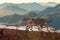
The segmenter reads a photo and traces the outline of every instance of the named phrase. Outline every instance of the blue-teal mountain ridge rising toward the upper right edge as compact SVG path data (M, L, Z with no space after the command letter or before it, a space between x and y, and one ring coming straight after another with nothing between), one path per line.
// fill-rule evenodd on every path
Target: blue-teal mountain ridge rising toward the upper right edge
M48 7L45 10L39 12L39 14L40 15L46 15L46 14L53 13L53 12L55 12L55 11L60 9L59 6L60 6L60 4L56 5L55 7Z

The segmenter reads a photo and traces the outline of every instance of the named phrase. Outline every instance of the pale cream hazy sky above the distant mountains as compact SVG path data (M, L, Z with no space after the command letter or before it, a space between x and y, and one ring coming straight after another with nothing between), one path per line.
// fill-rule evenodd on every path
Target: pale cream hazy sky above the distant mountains
M30 3L30 2L57 2L60 3L60 0L0 0L0 3Z

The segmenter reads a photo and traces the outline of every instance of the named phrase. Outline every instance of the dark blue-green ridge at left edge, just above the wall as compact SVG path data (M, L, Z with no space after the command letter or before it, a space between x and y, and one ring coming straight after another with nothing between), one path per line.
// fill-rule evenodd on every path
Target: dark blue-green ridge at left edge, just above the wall
M13 14L4 17L0 17L1 23L17 23L22 19L23 15Z

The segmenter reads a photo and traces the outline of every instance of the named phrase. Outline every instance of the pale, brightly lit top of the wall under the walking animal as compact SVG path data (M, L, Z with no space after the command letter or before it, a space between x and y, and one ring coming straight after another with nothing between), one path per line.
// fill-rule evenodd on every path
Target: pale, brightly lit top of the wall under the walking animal
M6 26L6 25L0 25L0 28L6 28L6 29L16 29L15 26ZM29 28L29 31L31 28ZM26 30L26 26L20 26L17 30ZM50 32L57 32L57 33L60 33L60 30L55 30L55 28L52 28L52 27L48 27L48 30ZM48 32L47 28L43 28L41 31L44 31L44 32ZM38 31L38 27L37 26L33 26L33 31Z

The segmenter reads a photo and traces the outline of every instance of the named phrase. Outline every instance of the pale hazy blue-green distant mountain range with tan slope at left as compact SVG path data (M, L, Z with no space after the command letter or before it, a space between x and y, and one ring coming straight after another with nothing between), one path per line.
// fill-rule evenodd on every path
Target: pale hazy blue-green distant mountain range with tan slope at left
M19 15L24 15L29 13L30 11L43 11L49 5L43 5L43 3L21 3L21 4L14 4L14 3L3 3L0 4L0 16L11 15L17 13ZM52 6L51 6L52 7Z

